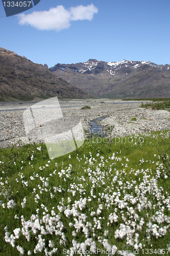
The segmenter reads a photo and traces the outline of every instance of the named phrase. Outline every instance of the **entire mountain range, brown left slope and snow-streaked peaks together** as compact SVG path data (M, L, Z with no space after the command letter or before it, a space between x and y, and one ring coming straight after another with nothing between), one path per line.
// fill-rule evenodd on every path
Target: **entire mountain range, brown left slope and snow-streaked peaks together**
M0 100L170 97L170 65L151 61L37 64L0 48Z

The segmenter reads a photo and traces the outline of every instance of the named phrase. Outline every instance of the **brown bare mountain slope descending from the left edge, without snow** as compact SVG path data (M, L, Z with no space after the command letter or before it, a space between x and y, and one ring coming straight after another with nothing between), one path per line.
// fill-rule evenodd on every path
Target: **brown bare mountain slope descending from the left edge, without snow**
M0 100L88 98L41 64L0 48Z

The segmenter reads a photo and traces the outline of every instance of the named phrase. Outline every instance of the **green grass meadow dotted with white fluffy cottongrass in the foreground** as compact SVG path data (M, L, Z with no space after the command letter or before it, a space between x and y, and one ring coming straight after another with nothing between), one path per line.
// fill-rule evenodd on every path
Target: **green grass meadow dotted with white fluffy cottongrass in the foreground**
M0 255L170 255L170 131L0 150Z

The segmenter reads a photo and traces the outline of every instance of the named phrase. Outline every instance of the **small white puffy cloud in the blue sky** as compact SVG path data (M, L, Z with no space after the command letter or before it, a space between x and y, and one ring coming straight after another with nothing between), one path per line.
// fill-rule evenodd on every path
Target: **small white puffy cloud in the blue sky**
M31 25L39 30L61 31L70 27L73 20L92 20L93 15L98 13L98 8L93 4L88 6L79 5L66 10L62 5L51 8L49 11L38 11L30 14L19 14L20 25Z

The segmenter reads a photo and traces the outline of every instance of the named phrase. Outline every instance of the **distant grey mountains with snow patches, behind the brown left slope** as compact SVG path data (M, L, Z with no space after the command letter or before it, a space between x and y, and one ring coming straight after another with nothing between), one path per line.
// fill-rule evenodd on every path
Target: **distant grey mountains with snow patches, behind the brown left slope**
M72 86L99 98L170 97L170 65L151 61L60 64L49 69Z

